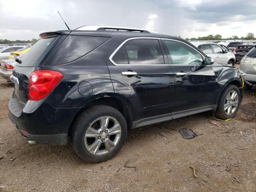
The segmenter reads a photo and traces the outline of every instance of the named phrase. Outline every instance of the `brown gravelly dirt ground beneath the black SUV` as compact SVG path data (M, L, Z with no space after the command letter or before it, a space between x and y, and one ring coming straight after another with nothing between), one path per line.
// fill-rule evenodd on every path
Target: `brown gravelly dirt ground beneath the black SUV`
M30 147L8 119L12 91L0 79L0 156L10 149L0 160L0 192L256 191L256 86L228 122L215 126L206 112L132 130L122 150L99 164L81 160L70 144ZM198 136L184 140L181 128Z

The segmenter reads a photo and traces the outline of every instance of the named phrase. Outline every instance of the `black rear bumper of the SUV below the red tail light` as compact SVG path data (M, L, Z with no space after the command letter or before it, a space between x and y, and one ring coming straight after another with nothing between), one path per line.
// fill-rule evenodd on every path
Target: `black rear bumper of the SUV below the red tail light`
M80 108L53 108L47 102L25 113L16 98L9 102L8 116L17 130L39 143L65 145L70 124Z

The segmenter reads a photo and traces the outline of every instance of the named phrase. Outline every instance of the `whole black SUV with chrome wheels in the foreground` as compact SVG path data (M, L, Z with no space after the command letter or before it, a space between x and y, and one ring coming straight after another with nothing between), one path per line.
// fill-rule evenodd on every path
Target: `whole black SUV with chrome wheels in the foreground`
M235 116L238 71L184 39L145 30L62 30L40 34L11 76L9 117L30 144L65 145L101 162L128 129L213 111Z

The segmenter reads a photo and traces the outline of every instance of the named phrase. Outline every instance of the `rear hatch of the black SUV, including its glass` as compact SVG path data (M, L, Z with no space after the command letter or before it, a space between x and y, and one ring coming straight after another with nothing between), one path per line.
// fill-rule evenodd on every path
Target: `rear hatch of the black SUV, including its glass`
M58 32L41 34L41 39L32 48L17 57L19 62L16 64L13 76L18 78L18 83L14 84L14 96L20 104L25 106L28 101L28 82L31 72L38 70L44 57L50 52L57 42L64 36ZM17 60L16 60L17 61Z

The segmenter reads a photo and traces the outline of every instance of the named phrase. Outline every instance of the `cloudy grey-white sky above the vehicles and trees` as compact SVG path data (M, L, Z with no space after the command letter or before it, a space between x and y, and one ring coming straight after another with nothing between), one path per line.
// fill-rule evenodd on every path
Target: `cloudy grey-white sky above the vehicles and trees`
M83 25L150 28L182 38L256 35L256 0L0 0L0 39Z

